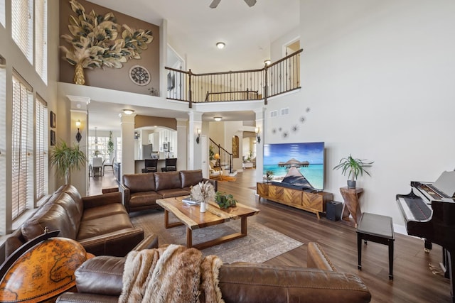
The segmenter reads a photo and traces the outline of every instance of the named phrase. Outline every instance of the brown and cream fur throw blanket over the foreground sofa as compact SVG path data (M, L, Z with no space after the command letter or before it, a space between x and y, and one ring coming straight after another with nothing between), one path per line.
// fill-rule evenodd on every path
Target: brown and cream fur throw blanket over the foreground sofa
M128 253L120 303L224 303L218 287L223 262L215 255L171 244Z

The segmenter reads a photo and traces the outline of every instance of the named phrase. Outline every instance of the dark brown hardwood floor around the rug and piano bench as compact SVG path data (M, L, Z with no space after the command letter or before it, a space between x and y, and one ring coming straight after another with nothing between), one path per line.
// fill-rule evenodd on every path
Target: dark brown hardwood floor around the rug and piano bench
M235 182L218 182L218 190L232 193L242 204L260 209L250 220L303 243L320 243L339 272L353 273L365 282L372 302L451 302L449 279L432 273L429 268L429 264L438 266L441 262L439 246L433 245L430 253L424 253L421 239L395 233L394 280L388 279L388 251L382 244L368 242L363 245L360 271L357 269L355 228L323 216L318 220L314 214L268 200L259 202L254 175L255 170L239 172ZM90 178L91 194L100 194L102 187L116 185L112 175L100 179ZM266 263L306 267L306 247L300 246Z

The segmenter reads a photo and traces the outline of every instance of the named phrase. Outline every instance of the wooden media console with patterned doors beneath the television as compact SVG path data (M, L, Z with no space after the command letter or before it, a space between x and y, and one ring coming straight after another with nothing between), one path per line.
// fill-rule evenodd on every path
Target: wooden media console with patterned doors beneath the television
M256 193L259 195L259 200L264 198L310 211L316 214L318 219L320 219L320 212L326 212L326 203L333 200L333 194L330 192L309 192L267 182L257 182Z

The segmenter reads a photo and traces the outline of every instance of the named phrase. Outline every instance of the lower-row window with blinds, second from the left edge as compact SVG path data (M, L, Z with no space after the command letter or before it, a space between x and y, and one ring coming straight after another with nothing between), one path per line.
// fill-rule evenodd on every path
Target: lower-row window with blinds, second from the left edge
M31 87L13 77L11 142L12 219L33 203L33 94Z

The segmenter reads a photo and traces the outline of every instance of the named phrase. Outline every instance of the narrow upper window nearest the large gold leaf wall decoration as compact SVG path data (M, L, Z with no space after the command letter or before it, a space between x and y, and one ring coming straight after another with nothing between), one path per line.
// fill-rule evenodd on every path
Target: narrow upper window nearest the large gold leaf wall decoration
M35 70L48 84L48 1L35 1Z

